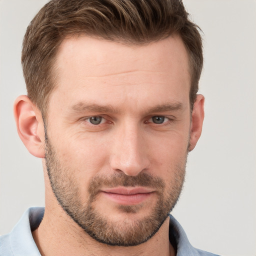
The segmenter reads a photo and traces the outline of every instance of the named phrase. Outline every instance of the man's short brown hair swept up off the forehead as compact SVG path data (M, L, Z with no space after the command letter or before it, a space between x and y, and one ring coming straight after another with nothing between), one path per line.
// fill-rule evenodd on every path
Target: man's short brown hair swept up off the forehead
M181 0L51 0L32 19L23 39L21 63L28 97L46 110L56 82L57 50L68 35L145 44L178 34L189 55L192 109L203 62L198 30Z

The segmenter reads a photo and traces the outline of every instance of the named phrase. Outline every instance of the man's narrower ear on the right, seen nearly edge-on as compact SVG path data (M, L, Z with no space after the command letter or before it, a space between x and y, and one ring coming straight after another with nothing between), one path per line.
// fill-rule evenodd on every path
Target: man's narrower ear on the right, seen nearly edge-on
M198 94L194 102L191 124L190 124L190 139L188 150L191 151L194 149L202 131L202 122L204 118L204 96Z

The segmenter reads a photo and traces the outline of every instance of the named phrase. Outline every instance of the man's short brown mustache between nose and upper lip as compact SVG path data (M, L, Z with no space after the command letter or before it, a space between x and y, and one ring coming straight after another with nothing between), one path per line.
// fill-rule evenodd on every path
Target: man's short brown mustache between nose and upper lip
M95 176L89 182L88 192L90 195L95 195L102 187L112 188L116 186L146 186L163 190L165 183L162 178L154 177L145 172L140 172L136 176L128 176L119 172L111 176Z

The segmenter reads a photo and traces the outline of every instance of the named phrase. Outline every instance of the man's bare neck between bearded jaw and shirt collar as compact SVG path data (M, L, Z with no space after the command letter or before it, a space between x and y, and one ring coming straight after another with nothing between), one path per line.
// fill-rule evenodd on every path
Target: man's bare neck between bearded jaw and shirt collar
M32 234L42 256L174 256L174 249L168 239L168 229L169 219L167 218L148 241L136 246L112 246L91 238L60 206L58 210L45 206L42 222Z

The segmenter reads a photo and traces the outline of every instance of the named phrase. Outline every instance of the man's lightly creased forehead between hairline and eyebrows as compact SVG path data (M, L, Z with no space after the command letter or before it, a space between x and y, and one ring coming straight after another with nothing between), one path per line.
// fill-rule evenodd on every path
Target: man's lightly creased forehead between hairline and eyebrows
M172 101L180 101L177 97L188 100L188 56L179 36L143 45L71 37L61 43L55 65L55 103L59 97L60 104L90 98L106 104L144 104L154 101L156 93Z

